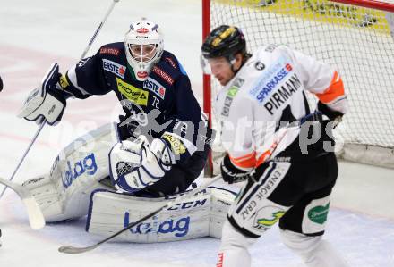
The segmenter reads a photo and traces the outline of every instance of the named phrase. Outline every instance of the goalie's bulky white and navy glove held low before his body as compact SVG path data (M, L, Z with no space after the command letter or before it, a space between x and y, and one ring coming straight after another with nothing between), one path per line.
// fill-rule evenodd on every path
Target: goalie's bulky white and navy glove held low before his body
M163 178L171 170L175 157L162 139L151 145L145 136L117 143L109 152L109 169L116 189L133 193Z

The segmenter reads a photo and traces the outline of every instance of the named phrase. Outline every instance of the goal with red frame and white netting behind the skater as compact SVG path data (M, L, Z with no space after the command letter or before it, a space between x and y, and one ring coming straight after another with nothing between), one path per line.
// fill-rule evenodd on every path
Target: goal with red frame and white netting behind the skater
M373 0L202 0L202 38L235 25L250 52L284 44L330 63L350 104L335 133L337 154L394 168L393 14L394 4ZM204 75L203 87L203 109L216 128L212 99L220 86Z

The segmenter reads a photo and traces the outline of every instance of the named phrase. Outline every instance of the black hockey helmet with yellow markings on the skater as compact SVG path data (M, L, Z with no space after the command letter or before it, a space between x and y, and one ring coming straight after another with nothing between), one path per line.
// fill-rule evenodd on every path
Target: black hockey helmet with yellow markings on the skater
M231 61L237 53L246 54L244 34L235 26L218 26L205 38L201 53L206 59L224 56Z

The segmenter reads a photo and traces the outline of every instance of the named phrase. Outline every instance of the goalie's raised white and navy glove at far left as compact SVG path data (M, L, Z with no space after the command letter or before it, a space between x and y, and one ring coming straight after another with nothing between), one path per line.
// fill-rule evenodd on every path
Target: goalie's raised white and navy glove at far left
M18 117L40 124L46 120L49 125L54 125L62 119L65 99L70 95L60 89L59 66L51 65L47 75L42 79L41 86L35 88L26 99Z

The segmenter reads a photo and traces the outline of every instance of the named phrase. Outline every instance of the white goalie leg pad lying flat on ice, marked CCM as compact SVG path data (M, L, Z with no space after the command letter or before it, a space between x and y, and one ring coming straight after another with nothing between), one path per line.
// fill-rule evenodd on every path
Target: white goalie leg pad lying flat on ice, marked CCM
M171 196L174 198L179 195ZM156 243L221 236L235 193L208 188L133 227L117 240ZM138 197L99 190L90 198L86 230L107 237L167 204L168 197Z

